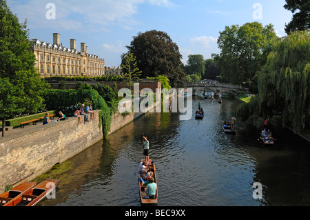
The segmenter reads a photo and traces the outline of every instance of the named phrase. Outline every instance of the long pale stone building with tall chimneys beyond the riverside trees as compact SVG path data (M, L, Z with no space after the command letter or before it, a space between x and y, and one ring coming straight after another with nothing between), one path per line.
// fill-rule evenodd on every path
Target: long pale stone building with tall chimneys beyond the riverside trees
M105 75L105 61L87 52L86 43L76 50L76 39L70 39L70 48L60 42L60 34L53 34L53 43L30 39L36 56L36 68L41 77L100 77Z

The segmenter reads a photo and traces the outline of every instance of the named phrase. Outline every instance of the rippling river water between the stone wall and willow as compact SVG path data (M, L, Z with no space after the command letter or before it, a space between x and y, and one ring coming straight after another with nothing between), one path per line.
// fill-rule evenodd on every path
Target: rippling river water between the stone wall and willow
M205 110L201 121L180 113L147 113L65 162L56 199L39 206L141 206L138 163L143 134L156 163L158 206L309 206L310 146L273 125L274 146L258 141L260 128L237 119L238 134L220 126L231 119L236 99L193 98ZM262 199L254 199L254 183Z

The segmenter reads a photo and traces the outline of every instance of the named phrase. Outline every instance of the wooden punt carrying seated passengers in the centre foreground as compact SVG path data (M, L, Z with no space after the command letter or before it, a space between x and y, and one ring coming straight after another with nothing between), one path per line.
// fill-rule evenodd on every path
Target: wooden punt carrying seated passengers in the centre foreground
M144 161L143 159L141 161ZM156 178L156 167L155 167L155 163L153 163L152 166L152 160L149 159L149 163L147 164L147 167L149 168L150 171L152 171L154 173L154 183L157 184L157 178ZM141 184L140 181L141 178L141 174L139 173L139 178L138 178L138 182L139 182L139 193L140 193L140 201L143 205L152 205L152 204L157 204L158 203L158 186L156 186L156 197L155 199L149 199L147 197L147 192L145 192L145 188L147 188L147 186L143 186Z

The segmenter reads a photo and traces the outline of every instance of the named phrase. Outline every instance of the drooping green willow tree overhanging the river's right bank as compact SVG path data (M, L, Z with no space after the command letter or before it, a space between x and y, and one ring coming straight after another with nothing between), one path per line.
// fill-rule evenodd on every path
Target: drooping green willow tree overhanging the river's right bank
M241 119L281 112L282 126L301 132L310 111L310 33L291 32L258 74L258 96L238 108Z

